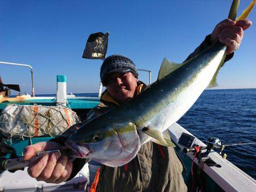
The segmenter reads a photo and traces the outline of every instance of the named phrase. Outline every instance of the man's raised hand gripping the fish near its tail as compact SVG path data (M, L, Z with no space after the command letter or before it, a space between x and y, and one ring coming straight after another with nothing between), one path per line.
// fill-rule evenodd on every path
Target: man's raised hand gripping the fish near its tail
M213 44L220 41L225 44L228 49L226 49L226 55L229 55L234 50L240 47L241 41L243 39L243 31L251 26L250 20L239 20L233 21L231 19L222 20L214 28L212 34L210 35L210 40Z

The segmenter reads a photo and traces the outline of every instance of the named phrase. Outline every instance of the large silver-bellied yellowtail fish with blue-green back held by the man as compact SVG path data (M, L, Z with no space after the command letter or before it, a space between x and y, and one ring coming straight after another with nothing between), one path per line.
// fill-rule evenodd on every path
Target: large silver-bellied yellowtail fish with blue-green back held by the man
M234 0L229 14L232 20L238 5ZM226 46L217 43L183 64L164 59L154 84L131 101L76 125L79 130L65 145L75 157L92 158L113 167L127 164L150 140L174 147L162 132L191 108L205 88L216 85L225 51Z

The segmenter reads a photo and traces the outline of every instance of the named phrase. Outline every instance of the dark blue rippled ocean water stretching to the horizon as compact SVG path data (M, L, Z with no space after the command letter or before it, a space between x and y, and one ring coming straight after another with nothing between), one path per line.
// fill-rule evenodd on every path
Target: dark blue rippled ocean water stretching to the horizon
M97 97L97 93L75 95ZM204 143L209 137L218 137L222 144L256 142L256 89L205 90L177 123ZM223 152L256 179L255 144L227 147Z

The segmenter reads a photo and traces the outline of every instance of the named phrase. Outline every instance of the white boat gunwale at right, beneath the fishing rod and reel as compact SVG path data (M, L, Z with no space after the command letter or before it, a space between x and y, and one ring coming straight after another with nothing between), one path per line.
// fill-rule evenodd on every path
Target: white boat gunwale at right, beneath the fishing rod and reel
M190 132L185 130L182 126L177 123L172 124L168 128L170 132L170 136L172 141L175 142L181 149L184 147L178 144L179 137L181 133L187 133L192 135ZM194 135L192 135L194 136ZM200 146L207 146L201 140L195 140L196 145ZM187 154L191 160L193 160L193 154ZM207 164L203 164L203 170L207 175L212 178L214 182L217 183L223 190L225 191L252 191L252 189L256 188L256 180L250 177L248 174L243 172L240 168L236 165L232 164L229 160L222 158L217 152L211 150L209 153L209 157L216 162L217 164L221 165L221 168L217 168L215 166L208 166ZM198 161L195 158L195 163L198 165Z

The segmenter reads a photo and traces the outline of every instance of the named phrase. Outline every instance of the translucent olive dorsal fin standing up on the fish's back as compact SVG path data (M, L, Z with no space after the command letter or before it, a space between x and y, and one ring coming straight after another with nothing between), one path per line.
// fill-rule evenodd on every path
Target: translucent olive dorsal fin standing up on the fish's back
M183 64L176 64L175 62L168 61L166 58L163 59L159 73L158 80L166 77L171 72L174 72L177 68L180 68Z

